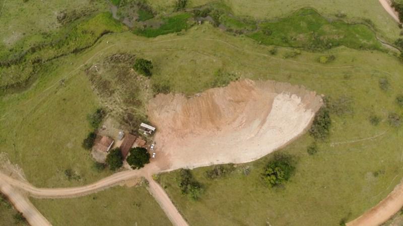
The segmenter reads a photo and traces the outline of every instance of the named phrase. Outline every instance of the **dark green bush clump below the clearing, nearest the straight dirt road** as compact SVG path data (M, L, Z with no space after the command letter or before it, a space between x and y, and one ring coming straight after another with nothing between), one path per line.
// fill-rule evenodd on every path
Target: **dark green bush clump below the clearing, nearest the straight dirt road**
M179 188L182 194L187 194L192 200L199 199L203 191L201 184L193 178L188 169L179 171Z

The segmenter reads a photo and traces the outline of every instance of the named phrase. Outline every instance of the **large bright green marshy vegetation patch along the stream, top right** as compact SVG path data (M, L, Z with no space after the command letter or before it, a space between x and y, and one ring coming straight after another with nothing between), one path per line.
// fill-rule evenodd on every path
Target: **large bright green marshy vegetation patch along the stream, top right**
M275 22L261 22L258 26L259 30L248 36L266 45L311 50L341 45L355 49L381 48L375 34L367 26L351 25L343 21L329 22L309 8L298 10L290 17Z

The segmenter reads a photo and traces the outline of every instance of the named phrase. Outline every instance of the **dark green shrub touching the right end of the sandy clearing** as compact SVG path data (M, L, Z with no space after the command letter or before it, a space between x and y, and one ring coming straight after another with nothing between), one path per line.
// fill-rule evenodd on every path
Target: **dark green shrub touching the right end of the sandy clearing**
M309 133L315 139L325 139L329 136L331 119L327 107L321 107L316 113Z

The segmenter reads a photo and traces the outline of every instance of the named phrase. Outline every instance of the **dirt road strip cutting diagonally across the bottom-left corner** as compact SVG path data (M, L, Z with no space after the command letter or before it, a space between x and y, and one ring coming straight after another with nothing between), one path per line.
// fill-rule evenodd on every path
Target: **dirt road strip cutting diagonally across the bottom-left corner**
M0 179L0 191L5 194L14 207L20 211L31 226L52 226L49 221L35 208L27 197Z

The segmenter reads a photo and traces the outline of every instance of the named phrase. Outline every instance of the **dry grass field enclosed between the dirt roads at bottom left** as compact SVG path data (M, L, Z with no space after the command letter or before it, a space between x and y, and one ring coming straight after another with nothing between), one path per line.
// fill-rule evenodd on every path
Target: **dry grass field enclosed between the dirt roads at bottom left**
M145 186L114 187L80 198L31 201L53 226L172 225Z

